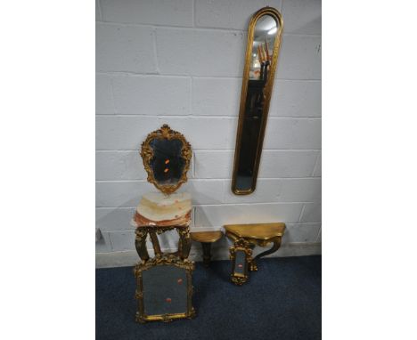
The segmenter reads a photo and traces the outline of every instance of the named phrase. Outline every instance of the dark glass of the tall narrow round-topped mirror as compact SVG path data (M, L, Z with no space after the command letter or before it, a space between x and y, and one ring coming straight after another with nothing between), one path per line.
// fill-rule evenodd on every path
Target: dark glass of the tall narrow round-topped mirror
M250 193L255 188L267 116L266 87L274 59L277 25L273 16L263 15L254 28L251 55L247 59L249 77L244 111L241 113L240 146L237 146L238 157L234 165L235 193Z

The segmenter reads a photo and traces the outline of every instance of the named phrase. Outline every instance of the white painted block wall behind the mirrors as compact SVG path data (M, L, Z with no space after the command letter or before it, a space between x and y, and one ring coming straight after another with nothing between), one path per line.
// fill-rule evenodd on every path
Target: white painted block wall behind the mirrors
M192 193L193 230L282 221L288 229L280 254L298 255L294 245L319 244L320 0L95 4L96 227L102 231L96 252L135 250L130 219L141 195L155 190L138 150L164 123L192 144L190 180L181 191ZM265 5L282 12L282 50L257 190L235 196L230 186L246 30ZM176 240L175 233L164 235L161 246L175 248Z

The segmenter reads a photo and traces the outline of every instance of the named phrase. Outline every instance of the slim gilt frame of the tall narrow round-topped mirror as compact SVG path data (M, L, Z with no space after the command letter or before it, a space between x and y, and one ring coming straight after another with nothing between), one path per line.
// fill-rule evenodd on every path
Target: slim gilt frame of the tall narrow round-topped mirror
M245 107L248 95L248 87L249 87L249 69L250 63L252 62L252 48L254 43L254 35L255 35L255 28L257 22L260 18L269 15L271 16L277 26L276 35L274 38L274 49L272 55L272 61L269 66L268 76L266 79L266 85L263 90L264 94L264 105L263 105L263 112L260 122L260 129L258 134L258 145L256 146L256 156L253 166L253 173L252 173L252 182L251 186L248 190L240 190L236 186L237 181L237 174L239 170L239 162L240 162L240 153L241 153L241 140L242 140L242 131L243 131L243 123L245 118ZM243 79L241 83L241 106L239 110L239 123L237 128L237 136L236 136L236 147L234 152L234 165L233 165L233 179L232 179L232 191L236 195L248 195L256 189L257 179L258 179L258 168L260 157L262 153L262 145L264 142L264 135L266 129L266 120L269 110L269 102L271 100L271 93L274 86L274 77L275 77L275 69L278 62L278 55L281 48L281 41L282 41L282 28L283 28L283 20L282 15L273 7L264 7L256 12L250 22L249 22L249 29L248 29L248 43L246 48L246 57L245 57L245 67L243 69Z

